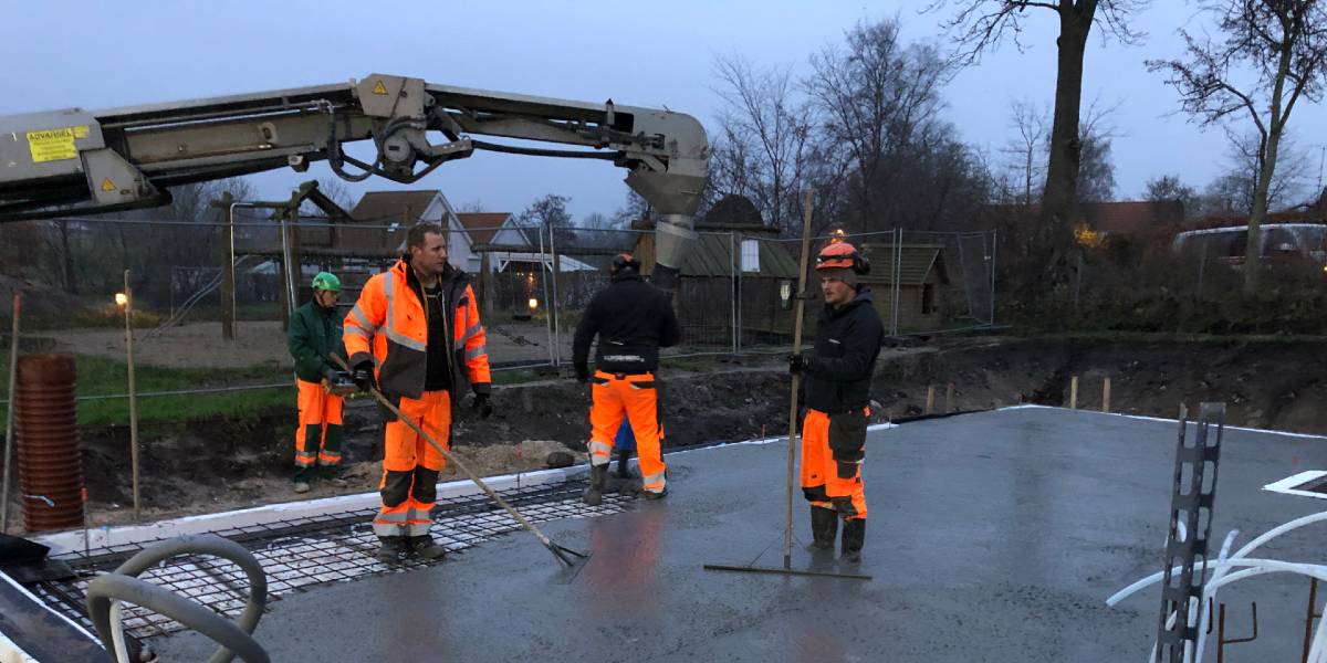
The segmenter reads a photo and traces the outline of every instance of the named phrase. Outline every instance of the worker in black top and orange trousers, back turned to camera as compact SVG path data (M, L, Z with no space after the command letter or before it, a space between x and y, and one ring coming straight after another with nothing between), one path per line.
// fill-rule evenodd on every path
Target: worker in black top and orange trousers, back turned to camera
M664 431L658 416L660 347L677 345L682 332L666 292L641 278L641 263L630 253L613 257L608 288L585 308L572 342L576 379L593 382L589 411L589 488L585 504L602 500L613 440L625 418L636 436L641 464L641 484L649 500L667 495ZM589 373L589 345L598 337L593 375Z

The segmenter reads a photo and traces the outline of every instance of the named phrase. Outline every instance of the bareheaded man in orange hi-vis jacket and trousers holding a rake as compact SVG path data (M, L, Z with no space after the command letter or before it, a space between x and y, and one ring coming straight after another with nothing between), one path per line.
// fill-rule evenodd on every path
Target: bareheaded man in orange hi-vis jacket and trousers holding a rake
M401 260L364 285L345 318L345 349L360 389L378 389L449 451L454 395L467 383L479 415L492 412L479 306L470 277L447 263L438 224L411 227ZM393 418L385 428L382 508L373 521L378 558L442 557L429 512L446 459L405 422Z

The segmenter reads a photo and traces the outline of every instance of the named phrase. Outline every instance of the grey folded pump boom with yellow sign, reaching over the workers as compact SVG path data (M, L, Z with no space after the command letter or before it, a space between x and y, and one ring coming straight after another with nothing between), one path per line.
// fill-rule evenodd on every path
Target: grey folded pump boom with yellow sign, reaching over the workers
M561 143L492 143L475 137ZM376 156L345 154L372 141ZM662 216L654 281L675 282L694 237L709 145L695 118L370 74L361 81L86 111L0 117L0 221L170 202L167 187L326 160L348 180L411 183L445 162L494 150L612 160ZM662 273L661 273L662 272Z

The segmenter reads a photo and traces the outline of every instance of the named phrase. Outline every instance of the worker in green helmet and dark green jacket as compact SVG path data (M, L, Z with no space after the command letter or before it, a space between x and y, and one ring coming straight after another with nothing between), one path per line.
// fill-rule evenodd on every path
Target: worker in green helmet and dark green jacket
M295 428L295 492L309 492L309 484L322 477L336 487L341 479L342 391L337 369L328 357L342 359L341 318L336 313L341 280L328 272L313 277L313 301L295 309L287 347L295 358L295 386L299 392L299 424Z

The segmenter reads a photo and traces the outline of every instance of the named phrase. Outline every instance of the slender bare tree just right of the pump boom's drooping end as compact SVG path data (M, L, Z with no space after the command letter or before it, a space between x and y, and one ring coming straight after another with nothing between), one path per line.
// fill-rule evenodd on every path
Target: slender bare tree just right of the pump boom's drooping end
M715 141L718 195L751 199L775 227L798 227L798 192L812 154L812 109L798 94L788 68L760 69L738 56L714 69L725 102Z

